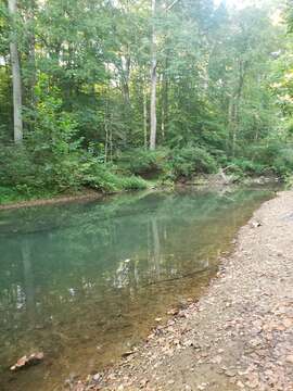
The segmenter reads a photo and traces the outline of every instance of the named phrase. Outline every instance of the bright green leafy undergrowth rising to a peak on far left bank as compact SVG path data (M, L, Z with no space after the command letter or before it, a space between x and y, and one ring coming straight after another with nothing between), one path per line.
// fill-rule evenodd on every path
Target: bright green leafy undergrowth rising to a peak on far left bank
M36 88L37 110L26 112L34 131L27 134L25 144L0 150L0 180L9 189L2 199L10 194L12 199L29 199L43 189L61 192L85 186L104 192L144 189L146 184L141 178L124 178L111 165L101 163L92 149L84 150L74 115L62 110L58 89L46 94L47 89L44 78Z

